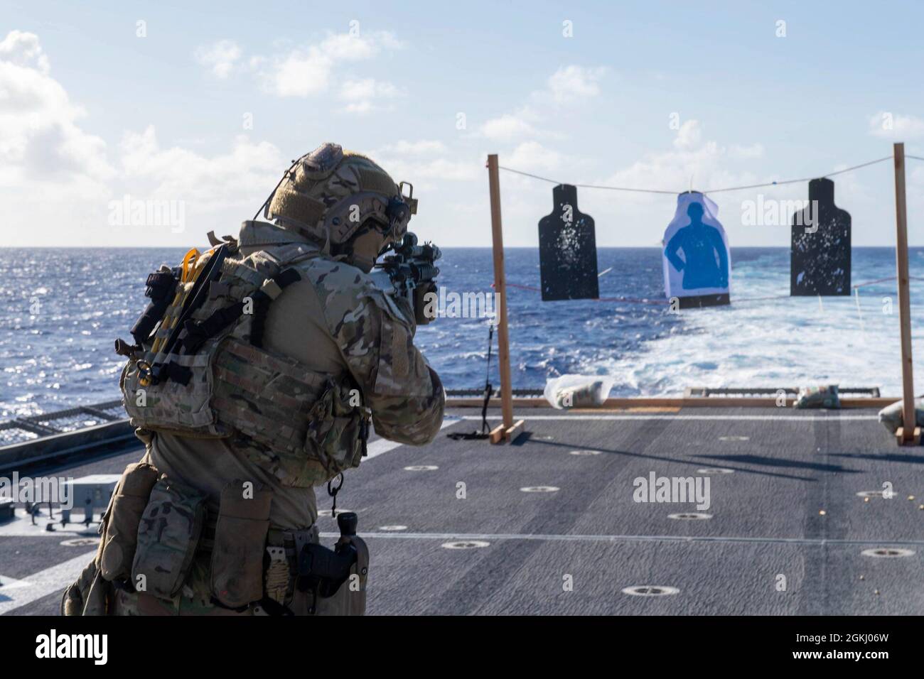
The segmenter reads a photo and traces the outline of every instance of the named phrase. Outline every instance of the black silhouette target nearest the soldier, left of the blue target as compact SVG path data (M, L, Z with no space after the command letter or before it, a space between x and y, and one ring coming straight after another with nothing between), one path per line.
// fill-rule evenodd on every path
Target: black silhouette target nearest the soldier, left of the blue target
M542 301L596 299L597 237L593 217L577 209L577 188L552 189L553 210L539 221Z

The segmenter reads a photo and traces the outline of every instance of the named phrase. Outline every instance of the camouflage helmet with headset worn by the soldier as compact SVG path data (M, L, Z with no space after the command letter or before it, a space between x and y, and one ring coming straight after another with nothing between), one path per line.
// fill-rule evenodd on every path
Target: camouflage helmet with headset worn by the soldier
M382 167L359 153L324 143L286 172L268 205L268 216L287 230L339 246L372 220L393 242L417 212L414 188L404 196Z

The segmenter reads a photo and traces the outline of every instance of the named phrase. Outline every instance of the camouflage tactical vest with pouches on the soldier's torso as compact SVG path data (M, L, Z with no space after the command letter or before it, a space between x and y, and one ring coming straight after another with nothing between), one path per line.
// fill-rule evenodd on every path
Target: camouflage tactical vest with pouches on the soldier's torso
M265 454L255 461L274 460L269 467L286 485L319 485L359 466L369 410L358 385L262 346L270 304L319 254L290 244L241 257L229 242L194 263L188 255L183 267L152 273L152 304L132 329L137 344L122 352L130 356L120 387L132 425L243 436ZM152 308L164 312L148 333ZM139 331L145 318L149 325Z

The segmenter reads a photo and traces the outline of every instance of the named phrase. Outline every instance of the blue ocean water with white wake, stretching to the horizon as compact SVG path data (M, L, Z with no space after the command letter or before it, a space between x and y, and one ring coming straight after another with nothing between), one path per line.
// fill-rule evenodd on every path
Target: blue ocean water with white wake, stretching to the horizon
M118 397L123 358L116 337L144 307L144 281L179 249L0 249L0 418ZM505 253L510 284L539 286L536 249ZM649 299L541 302L508 292L516 388L541 388L565 373L608 374L612 395L678 395L687 386L796 386L839 383L901 393L894 280L863 285L855 297L788 297L788 249L732 249L732 305L672 314L663 304L659 249L600 249L601 297ZM912 249L924 278L924 249ZM448 293L490 292L490 249L445 249ZM853 251L853 283L894 277L894 249ZM912 319L924 311L924 282L911 285ZM921 328L913 329L924 383ZM480 388L488 324L440 318L417 344L447 388ZM496 340L495 340L496 342ZM497 385L496 344L492 383ZM924 391L924 390L918 390Z

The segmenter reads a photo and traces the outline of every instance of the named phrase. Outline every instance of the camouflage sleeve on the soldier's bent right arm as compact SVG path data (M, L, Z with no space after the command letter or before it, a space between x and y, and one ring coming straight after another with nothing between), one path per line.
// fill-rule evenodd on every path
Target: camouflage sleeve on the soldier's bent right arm
M414 346L413 316L408 321L391 297L363 285L361 278L350 283L329 289L322 303L346 368L372 410L376 432L400 443L432 442L443 424L445 394L436 371Z

